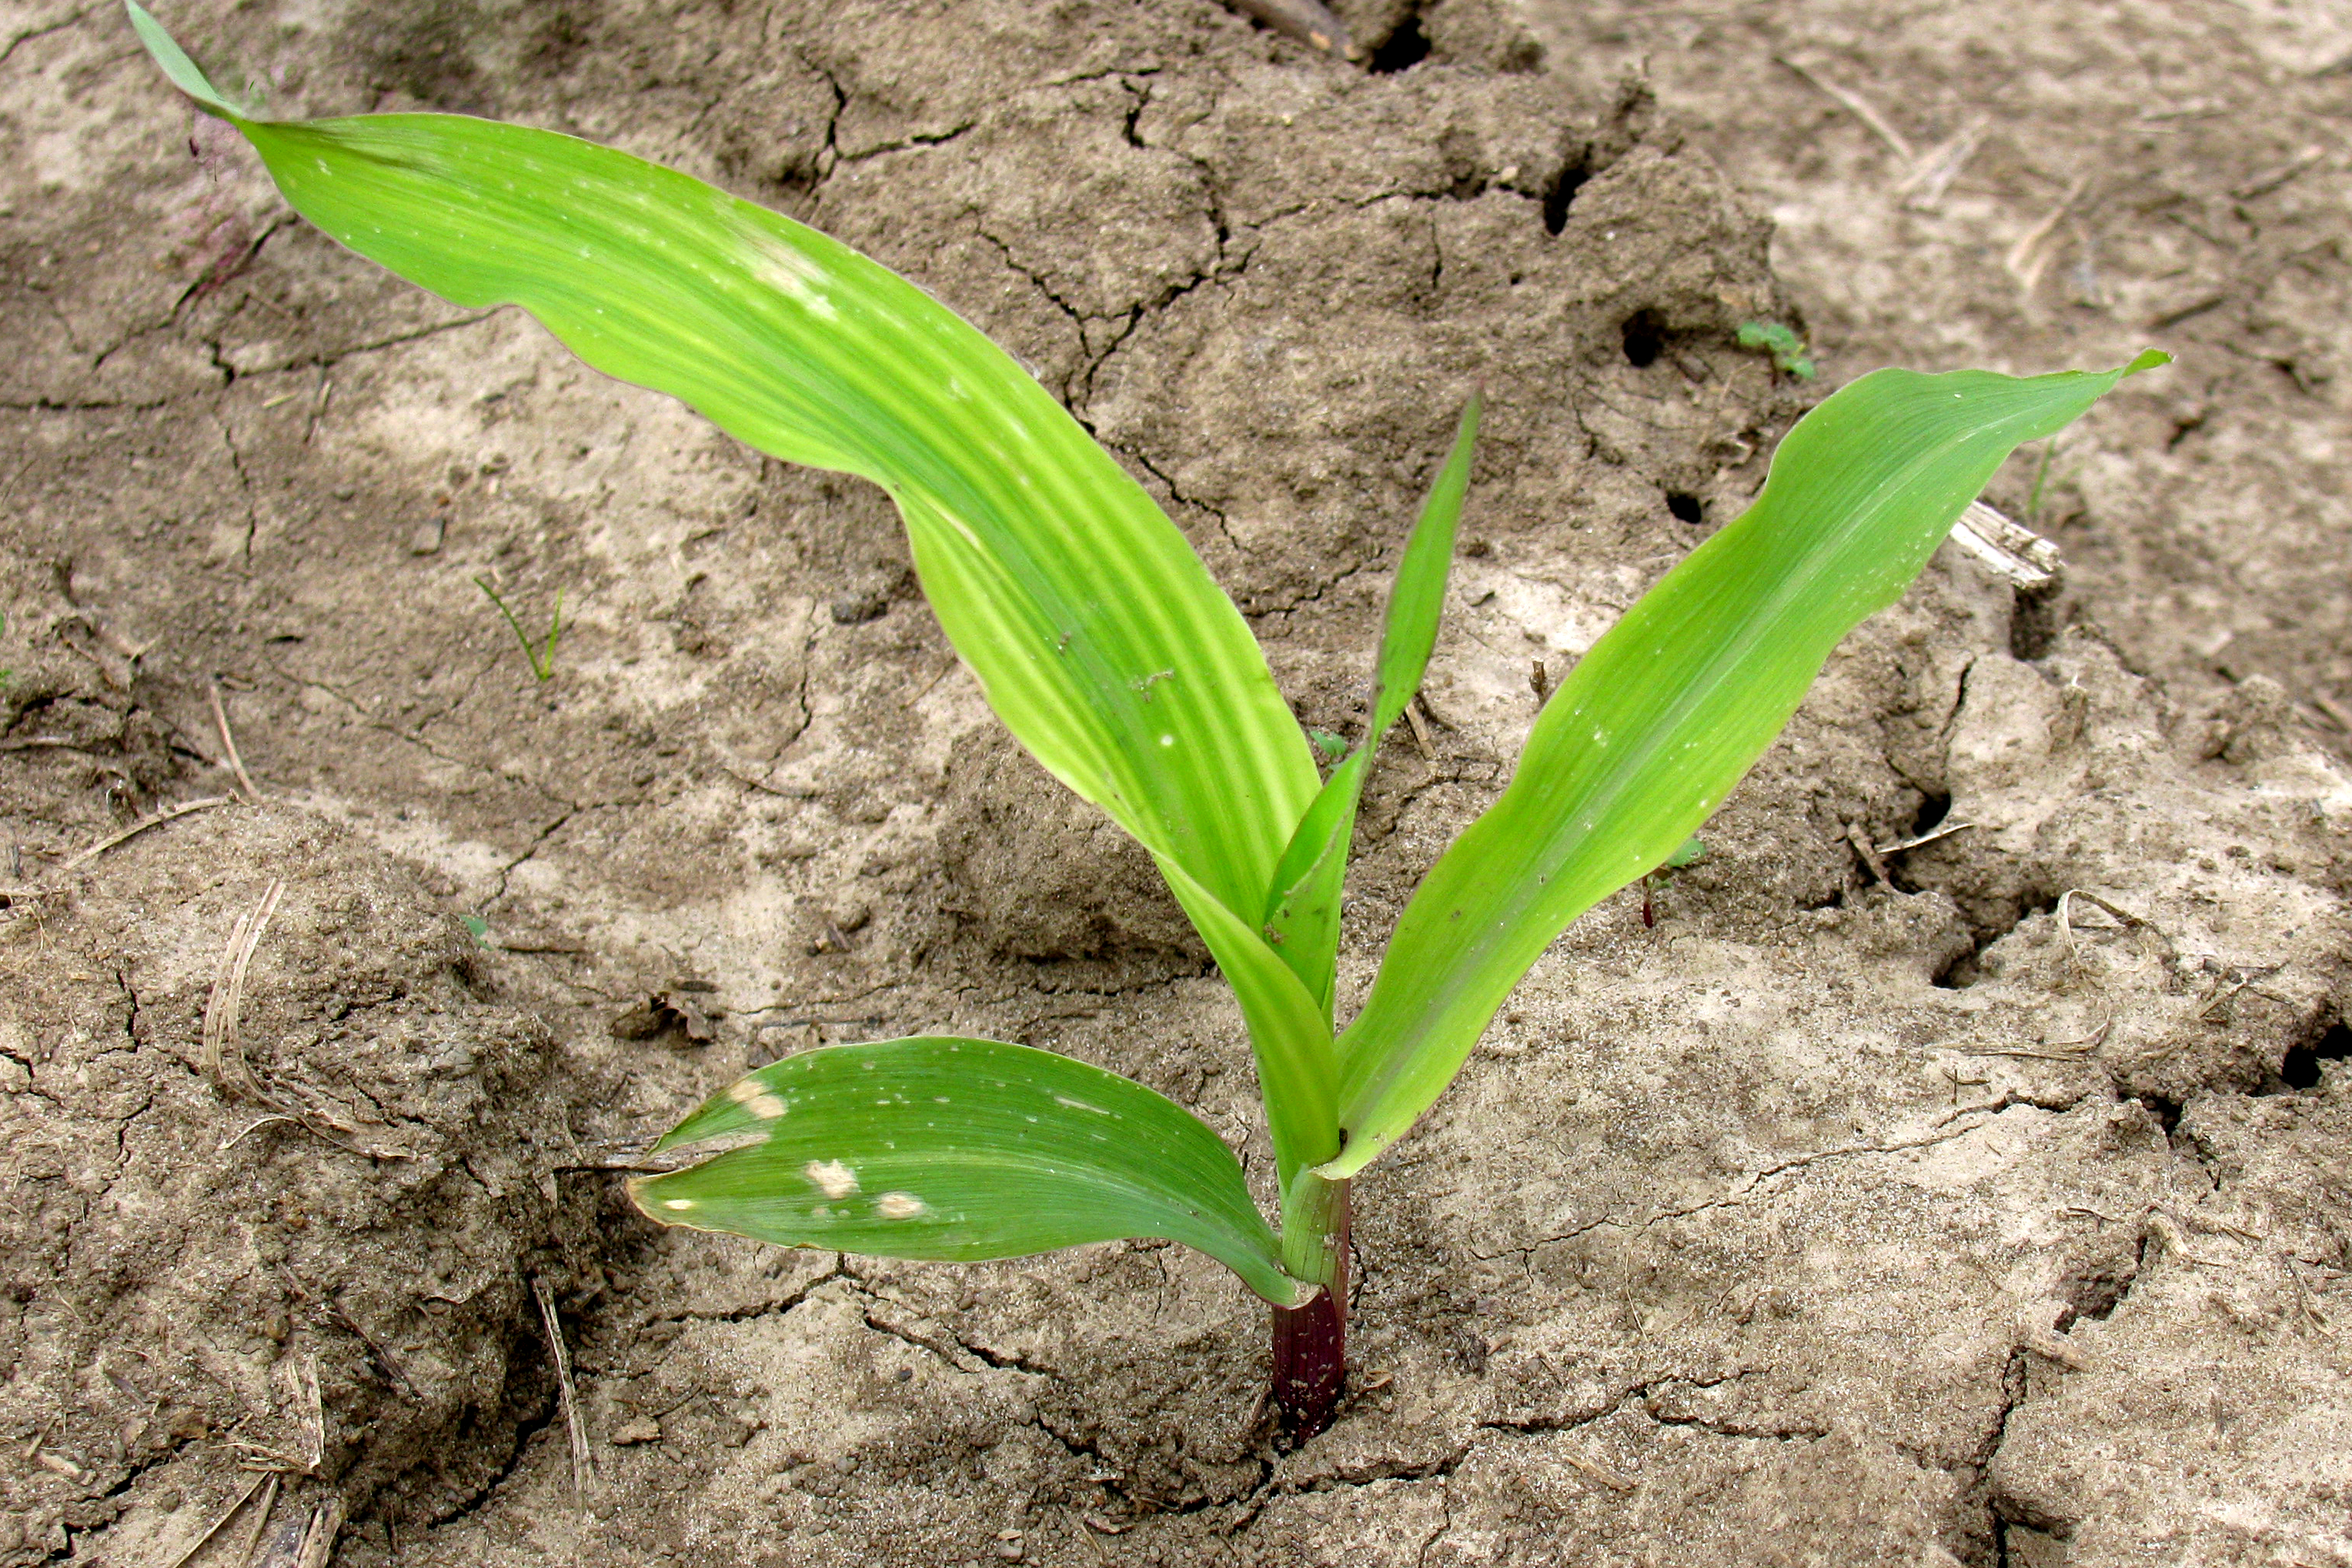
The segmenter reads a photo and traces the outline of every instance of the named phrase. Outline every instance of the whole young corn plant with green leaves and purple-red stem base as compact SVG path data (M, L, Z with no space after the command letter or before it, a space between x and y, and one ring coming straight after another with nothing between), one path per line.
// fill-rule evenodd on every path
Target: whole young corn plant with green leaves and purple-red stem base
M1780 442L1545 703L1517 773L1421 882L1336 1027L1341 889L1374 748L1437 635L1479 409L1404 545L1369 722L1319 776L1247 623L1150 496L1009 355L866 256L701 181L456 115L270 120L129 0L148 52L285 197L461 306L513 303L588 364L771 456L896 501L990 708L1155 858L1240 1001L1277 1215L1225 1143L1101 1067L922 1034L793 1056L713 1095L630 1185L666 1225L974 1262L1183 1241L1272 1305L1275 1396L1322 1429L1345 1378L1348 1187L1444 1093L1569 922L1668 865L1780 733L1830 649L1891 604L2020 442L2103 374L1884 369Z

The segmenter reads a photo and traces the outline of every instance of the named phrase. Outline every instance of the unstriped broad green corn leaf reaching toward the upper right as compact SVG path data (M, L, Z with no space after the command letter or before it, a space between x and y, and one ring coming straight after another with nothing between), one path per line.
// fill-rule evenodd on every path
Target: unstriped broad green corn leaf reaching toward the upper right
M1510 788L1414 893L1341 1037L1348 1150L1319 1173L1352 1175L1404 1135L1552 938L1708 820L2011 449L2164 362L2030 381L1884 369L1806 414L1757 503L1559 684Z

